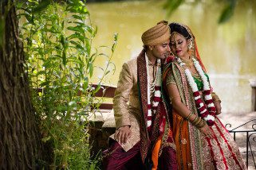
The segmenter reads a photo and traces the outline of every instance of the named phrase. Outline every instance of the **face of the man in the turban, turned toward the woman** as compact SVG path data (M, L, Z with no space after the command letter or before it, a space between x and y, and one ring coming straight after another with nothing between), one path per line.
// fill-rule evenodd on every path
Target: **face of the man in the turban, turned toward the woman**
M152 46L152 54L156 59L165 59L170 55L171 49L169 47L169 40L163 42L162 44L157 44Z

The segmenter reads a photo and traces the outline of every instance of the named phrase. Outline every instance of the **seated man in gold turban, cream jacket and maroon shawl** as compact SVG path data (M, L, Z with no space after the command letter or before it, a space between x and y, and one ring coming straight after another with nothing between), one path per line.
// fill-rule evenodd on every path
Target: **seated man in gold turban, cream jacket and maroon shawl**
M161 92L161 60L171 52L167 21L145 31L141 39L144 49L120 72L113 98L116 133L103 153L104 169L178 168Z

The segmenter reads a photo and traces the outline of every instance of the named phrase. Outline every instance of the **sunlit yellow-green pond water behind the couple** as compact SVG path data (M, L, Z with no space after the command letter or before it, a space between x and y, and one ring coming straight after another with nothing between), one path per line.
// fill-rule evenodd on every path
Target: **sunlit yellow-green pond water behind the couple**
M163 19L178 21L189 25L196 37L211 83L222 99L223 112L250 111L249 79L256 79L256 2L251 1L249 4L238 1L234 17L224 25L217 23L219 9L223 9L223 4L184 4L171 17L166 17L162 3L142 1L89 4L93 25L98 27L95 46L111 45L113 33L119 33L112 59L116 64L116 72L108 75L107 83L116 85L122 64L139 54L142 49L140 36L144 30ZM104 58L96 60L96 64L104 66ZM96 71L94 82L100 74L100 71Z

